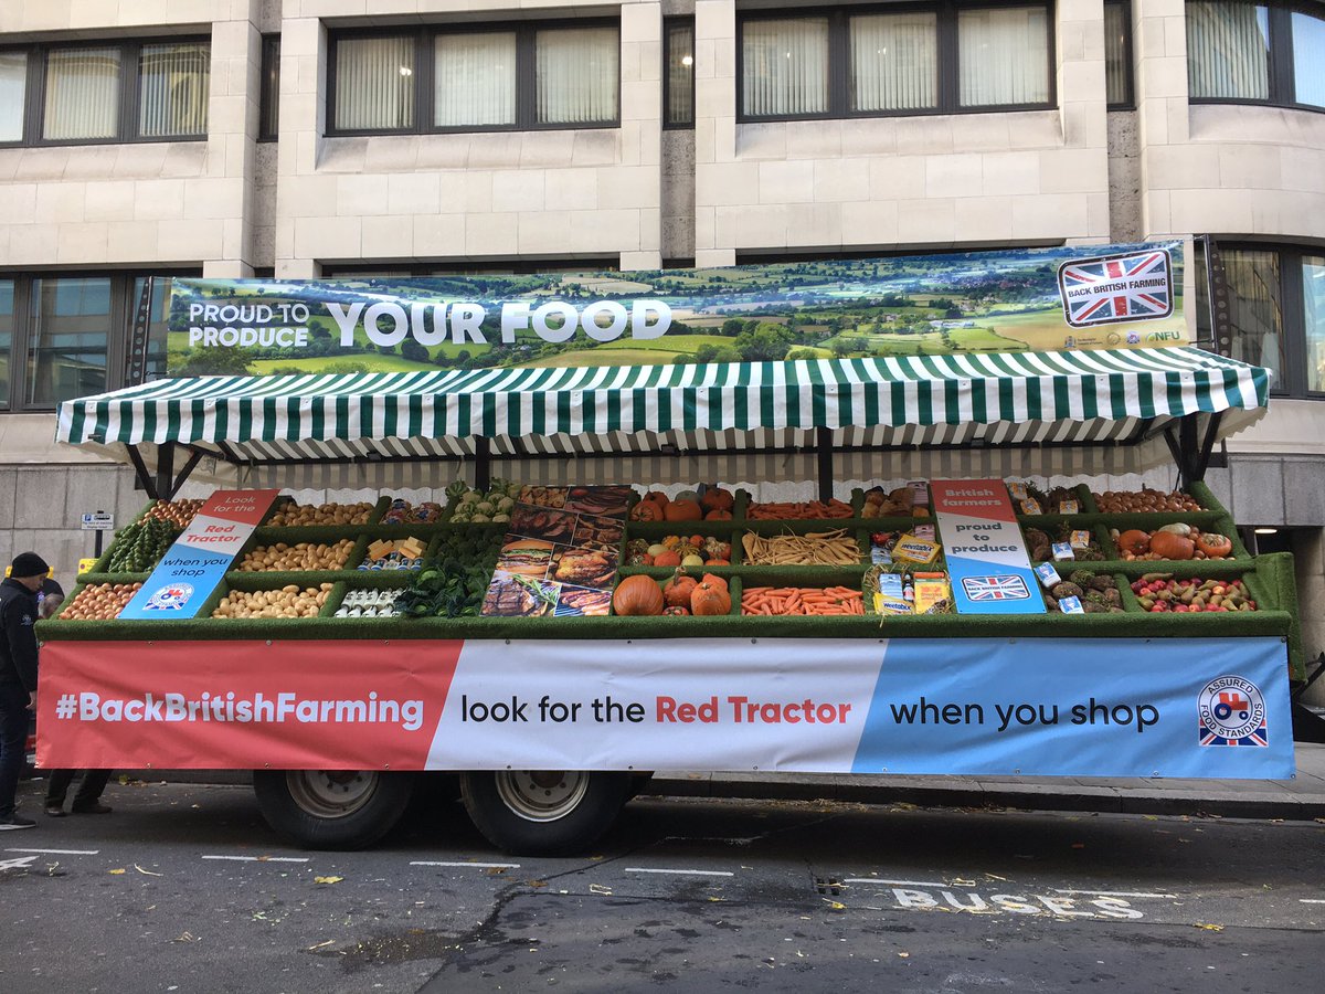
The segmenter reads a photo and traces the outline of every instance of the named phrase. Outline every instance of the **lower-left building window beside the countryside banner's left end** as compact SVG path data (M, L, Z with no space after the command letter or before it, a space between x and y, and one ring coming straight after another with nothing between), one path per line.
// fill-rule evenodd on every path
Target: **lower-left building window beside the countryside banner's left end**
M49 411L129 386L138 273L0 274L0 410ZM155 277L142 379L166 375L170 274ZM135 382L138 375L135 374Z

